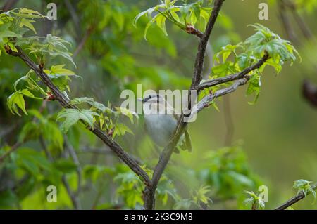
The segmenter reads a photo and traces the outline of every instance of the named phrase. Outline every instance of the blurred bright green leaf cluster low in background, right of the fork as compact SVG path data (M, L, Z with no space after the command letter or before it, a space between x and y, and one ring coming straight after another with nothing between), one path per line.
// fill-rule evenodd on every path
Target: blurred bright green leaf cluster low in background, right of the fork
M251 172L242 147L224 147L205 155L206 164L198 175L212 186L213 195L221 199L242 197L244 189L256 189L259 177Z

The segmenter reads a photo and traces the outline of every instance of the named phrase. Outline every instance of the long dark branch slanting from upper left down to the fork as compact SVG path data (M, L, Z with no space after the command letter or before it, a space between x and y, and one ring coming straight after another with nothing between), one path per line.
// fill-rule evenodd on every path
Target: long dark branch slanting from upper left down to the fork
M58 100L58 102L61 104L62 107L76 109L75 106L69 104L69 100L68 100L68 98L66 98L66 95L64 95L63 93L61 93L61 91L59 91L59 89L53 84L51 79L49 79L47 74L43 70L40 70L39 67L37 67L35 62L33 62L29 58L29 56L23 52L23 50L20 48L20 46L15 46L15 48L18 49L18 52L7 51L7 53L9 53L13 56L17 56L18 58L22 59L23 62L25 62L25 64L28 67L30 67L32 70L34 70L35 73L37 74L37 76L40 79L42 79L43 83L47 87L49 87L49 89L51 90L51 93L53 93L56 100ZM149 176L147 175L147 173L139 166L139 164L137 163L137 161L133 157L131 157L127 152L125 152L125 150L123 150L123 148L118 143L116 143L114 140L112 140L109 136L106 135L106 133L101 131L101 129L99 129L98 127L95 127L93 130L92 129L89 129L89 130L92 131L92 133L94 133L104 143L106 143L106 145L108 145L108 147L110 147L110 149L113 150L113 152L115 152L117 154L117 156L125 164L127 164L130 167L130 169L132 169L132 171L134 171L137 174L137 176L139 176L139 178L142 181L144 181L144 183L146 185L151 185L151 180L150 180Z

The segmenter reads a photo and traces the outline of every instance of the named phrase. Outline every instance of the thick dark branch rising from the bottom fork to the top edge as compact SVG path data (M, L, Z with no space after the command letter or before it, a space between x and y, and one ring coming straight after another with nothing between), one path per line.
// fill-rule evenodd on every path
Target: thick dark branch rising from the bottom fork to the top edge
M194 75L192 77L192 85L190 87L191 90L197 89L197 86L202 79L202 70L204 67L204 56L206 53L206 46L208 44L209 37L213 30L213 26L215 25L216 19L220 12L220 8L223 5L223 1L225 0L215 1L213 11L211 12L209 22L206 26L206 30L204 34L201 36L201 41L199 43L196 61L194 64ZM189 99L190 98L191 96L189 91ZM189 104L190 104L190 100L189 100ZM159 183L159 180L161 179L161 176L163 174L164 169L166 168L166 165L168 164L168 161L170 160L170 156L173 154L173 150L175 149L178 143L178 140L180 139L180 136L182 136L182 133L185 131L187 127L187 122L183 121L183 119L184 119L184 114L181 114L180 118L178 119L178 124L175 128L175 131L173 132L173 135L171 136L168 142L168 145L164 148L163 152L161 152L158 164L156 164L156 167L153 173L153 178L152 178L152 185L147 186L144 189L144 208L145 209L150 209L150 210L154 209L156 187Z

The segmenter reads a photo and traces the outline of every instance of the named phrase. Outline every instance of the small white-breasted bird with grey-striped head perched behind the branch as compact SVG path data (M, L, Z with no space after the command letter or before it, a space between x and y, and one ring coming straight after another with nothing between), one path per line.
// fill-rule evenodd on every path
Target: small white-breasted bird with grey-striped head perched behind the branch
M151 139L160 147L166 147L178 122L178 114L174 108L160 94L150 94L145 98L137 99L143 103L145 130ZM178 148L192 152L192 143L187 129L180 137L174 152Z

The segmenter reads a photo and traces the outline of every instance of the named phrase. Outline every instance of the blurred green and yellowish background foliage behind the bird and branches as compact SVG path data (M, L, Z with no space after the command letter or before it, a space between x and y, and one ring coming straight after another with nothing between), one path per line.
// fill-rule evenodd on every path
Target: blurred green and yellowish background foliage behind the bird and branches
M6 6L7 2L0 1L0 6ZM45 14L49 2L57 4L57 20L39 21L35 27L39 36L51 33L72 43L77 68L60 60L82 77L82 80L73 79L70 97L88 96L104 104L109 101L112 105L120 105L120 92L126 88L135 90L136 84L154 90L189 87L198 39L178 27L167 25L168 37L158 27L152 26L145 41L147 19L142 18L137 27L132 26L135 15L159 4L159 1L20 0L12 1L10 8L32 8ZM288 39L278 4L270 1L269 20L259 20L258 6L261 2L265 1L225 1L223 13L209 41L205 76L210 74L213 53L225 44L237 44L253 34L253 28L248 27L250 24L261 23L283 39ZM158 199L158 208L249 209L250 206L243 203L247 198L244 190L257 192L259 185L267 185L269 197L266 209L273 209L296 194L292 189L294 180L316 181L317 108L302 94L304 79L317 83L317 48L316 44L311 44L317 34L317 14L313 6L299 9L299 15L313 34L311 41L302 35L292 12L283 12L290 18L297 35L298 41L294 46L302 56L302 62L297 60L292 67L285 64L278 75L266 69L262 77L261 95L255 105L248 104L253 97L246 97L246 87L242 87L217 101L219 111L213 107L206 109L199 114L197 121L189 125L193 152L173 155L166 171L166 183L163 183L166 186L161 188L160 197L166 198ZM6 145L14 145L23 126L32 121L32 116L18 117L6 107L6 98L13 92L14 81L26 73L27 67L17 58L1 54L1 150ZM27 101L28 109L39 110L41 105L42 102ZM53 102L46 106L42 114L51 117L58 126L54 116L59 110L58 103ZM128 119L123 122L135 134L127 133L116 140L149 169L153 168L159 154L144 133L142 117L135 124L129 124ZM140 208L139 183L125 166L118 165L120 162L107 147L80 126L72 129L67 139L65 141L75 148L82 167L82 190L79 195L82 208ZM30 136L23 147L42 150L38 136ZM53 148L50 150L54 151ZM61 180L54 183L61 186L58 188L61 189L58 203L48 203L44 196L47 184L42 181L46 179L45 173L41 171L42 176L35 177L34 183L23 185L25 183L22 182L20 191L25 192L19 194L14 187L21 181L23 171L18 171L20 168L14 158L2 162L0 169L1 208L73 209ZM69 171L66 176L75 189L75 171ZM136 181L135 185L127 186L133 181ZM187 206L189 200L185 199L197 194L201 186L210 187L207 195L213 203ZM311 202L313 197L309 196L293 208L317 209L317 205Z

